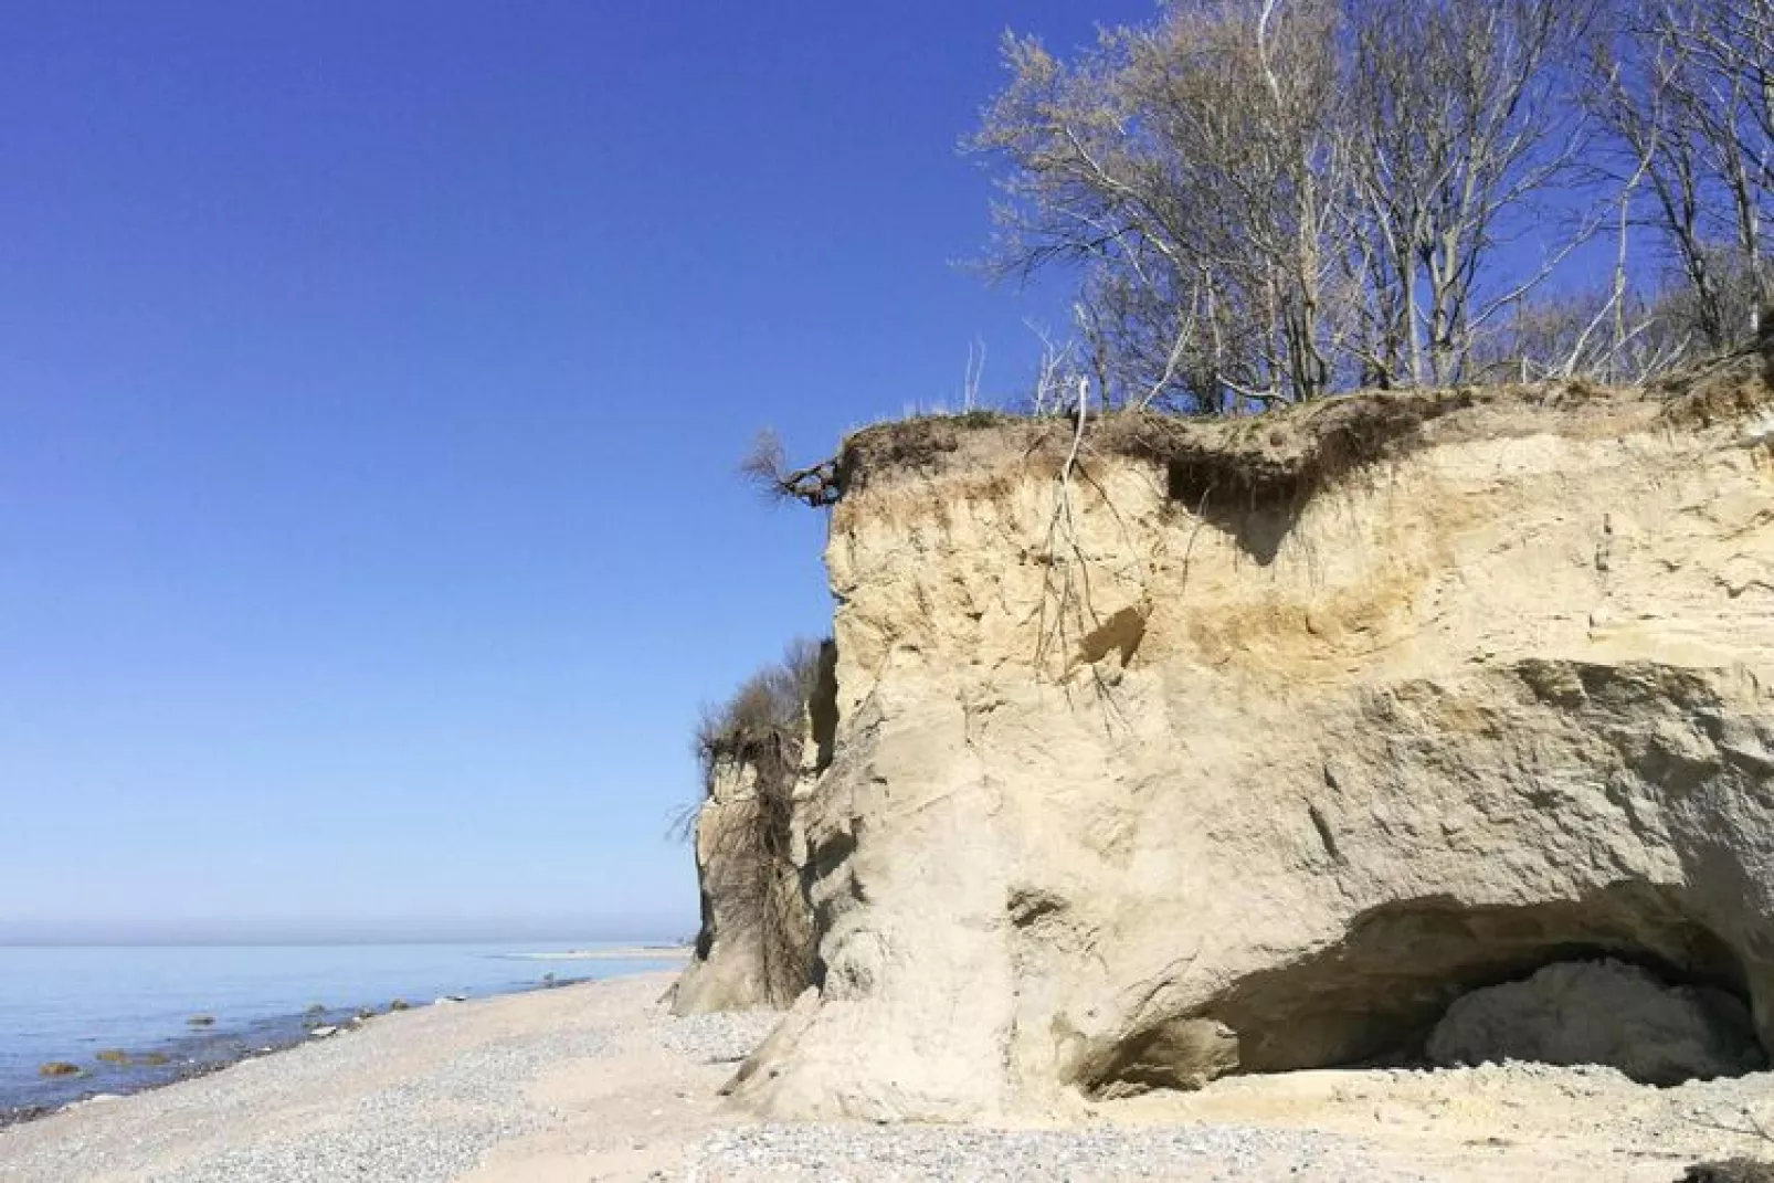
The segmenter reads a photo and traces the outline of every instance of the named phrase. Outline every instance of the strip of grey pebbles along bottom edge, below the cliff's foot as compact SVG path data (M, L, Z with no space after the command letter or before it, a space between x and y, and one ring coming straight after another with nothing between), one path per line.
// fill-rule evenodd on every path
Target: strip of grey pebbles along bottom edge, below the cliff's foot
M704 1139L688 1179L1359 1179L1416 1183L1343 1139L1245 1126L1174 1130L962 1130L756 1126Z

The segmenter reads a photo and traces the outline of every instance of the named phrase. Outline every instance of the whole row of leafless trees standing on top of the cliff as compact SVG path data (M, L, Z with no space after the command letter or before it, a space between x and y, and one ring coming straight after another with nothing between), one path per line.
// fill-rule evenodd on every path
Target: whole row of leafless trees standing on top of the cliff
M1105 404L1634 380L1774 296L1774 0L1169 0L1006 62L997 273L1077 268Z

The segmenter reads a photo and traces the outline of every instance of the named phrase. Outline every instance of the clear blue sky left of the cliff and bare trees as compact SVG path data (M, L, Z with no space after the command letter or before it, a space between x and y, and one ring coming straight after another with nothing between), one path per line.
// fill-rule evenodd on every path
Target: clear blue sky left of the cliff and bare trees
M828 626L733 475L1032 365L1006 25L1148 0L18 0L0 938L694 931L688 733Z

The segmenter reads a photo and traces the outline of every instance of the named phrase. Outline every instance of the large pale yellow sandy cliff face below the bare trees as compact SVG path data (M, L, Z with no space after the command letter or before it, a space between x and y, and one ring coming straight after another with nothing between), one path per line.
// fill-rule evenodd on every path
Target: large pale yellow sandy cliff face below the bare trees
M1582 956L1774 1046L1765 387L1437 399L848 445L816 988L743 1103L974 1119L1409 1055Z

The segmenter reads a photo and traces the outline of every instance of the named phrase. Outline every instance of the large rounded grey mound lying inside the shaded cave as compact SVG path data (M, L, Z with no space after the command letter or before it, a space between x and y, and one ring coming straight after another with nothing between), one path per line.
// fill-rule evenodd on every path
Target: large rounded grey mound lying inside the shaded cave
M1444 1066L1602 1064L1662 1085L1763 1066L1737 999L1671 988L1620 961L1563 961L1526 981L1474 990L1448 1007L1428 1054Z

